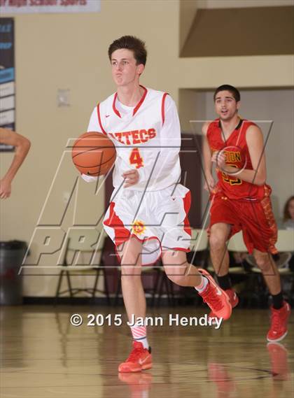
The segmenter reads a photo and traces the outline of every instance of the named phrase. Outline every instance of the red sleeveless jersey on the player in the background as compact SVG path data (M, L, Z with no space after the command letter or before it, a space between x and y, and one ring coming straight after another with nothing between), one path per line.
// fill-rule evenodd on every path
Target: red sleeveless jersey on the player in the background
M225 163L237 169L253 170L248 146L246 143L246 131L249 126L255 125L249 120L240 120L239 125L224 141L219 119L211 122L207 130L207 139L211 152L224 150ZM218 174L218 191L222 191L230 199L258 200L265 196L265 186L247 183L236 176L229 176L220 170Z

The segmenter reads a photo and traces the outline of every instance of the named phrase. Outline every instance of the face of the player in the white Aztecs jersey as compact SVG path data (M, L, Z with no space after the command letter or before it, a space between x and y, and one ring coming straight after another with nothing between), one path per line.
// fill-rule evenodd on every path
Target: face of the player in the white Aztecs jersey
M116 50L111 55L111 72L117 86L127 86L134 81L139 82L139 76L144 71L144 65L137 65L131 50Z

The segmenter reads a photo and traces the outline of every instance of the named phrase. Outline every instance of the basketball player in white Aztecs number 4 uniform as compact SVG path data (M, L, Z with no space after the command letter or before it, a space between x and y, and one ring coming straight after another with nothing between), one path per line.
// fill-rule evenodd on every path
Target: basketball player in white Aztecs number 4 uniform
M170 280L193 286L219 317L232 308L209 273L188 264L190 192L179 184L181 128L176 105L164 92L139 84L146 64L144 42L123 36L109 47L117 92L94 108L88 132L102 132L116 145L114 191L104 218L120 258L122 290L133 349L120 372L152 367L141 266L162 257ZM87 181L95 177L84 176Z

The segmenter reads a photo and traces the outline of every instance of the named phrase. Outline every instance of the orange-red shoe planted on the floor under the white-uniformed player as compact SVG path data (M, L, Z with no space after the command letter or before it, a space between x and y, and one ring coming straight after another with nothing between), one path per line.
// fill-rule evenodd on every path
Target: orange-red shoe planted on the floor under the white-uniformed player
M118 371L130 373L152 368L151 348L144 348L139 341L133 341L133 349L125 362L120 364Z

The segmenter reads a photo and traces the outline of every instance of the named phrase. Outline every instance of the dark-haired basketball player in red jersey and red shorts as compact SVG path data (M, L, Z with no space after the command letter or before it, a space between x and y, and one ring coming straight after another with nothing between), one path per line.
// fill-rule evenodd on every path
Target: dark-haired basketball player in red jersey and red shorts
M260 128L238 115L239 91L221 85L214 93L218 119L203 125L205 188L211 192L209 245L218 283L230 297L232 307L238 297L229 276L226 242L239 231L272 295L272 318L268 341L280 341L287 334L290 306L283 301L279 271L272 259L277 253L276 222L269 199L271 188L265 183L266 166ZM218 182L211 174L216 164ZM211 313L210 315L213 316Z

